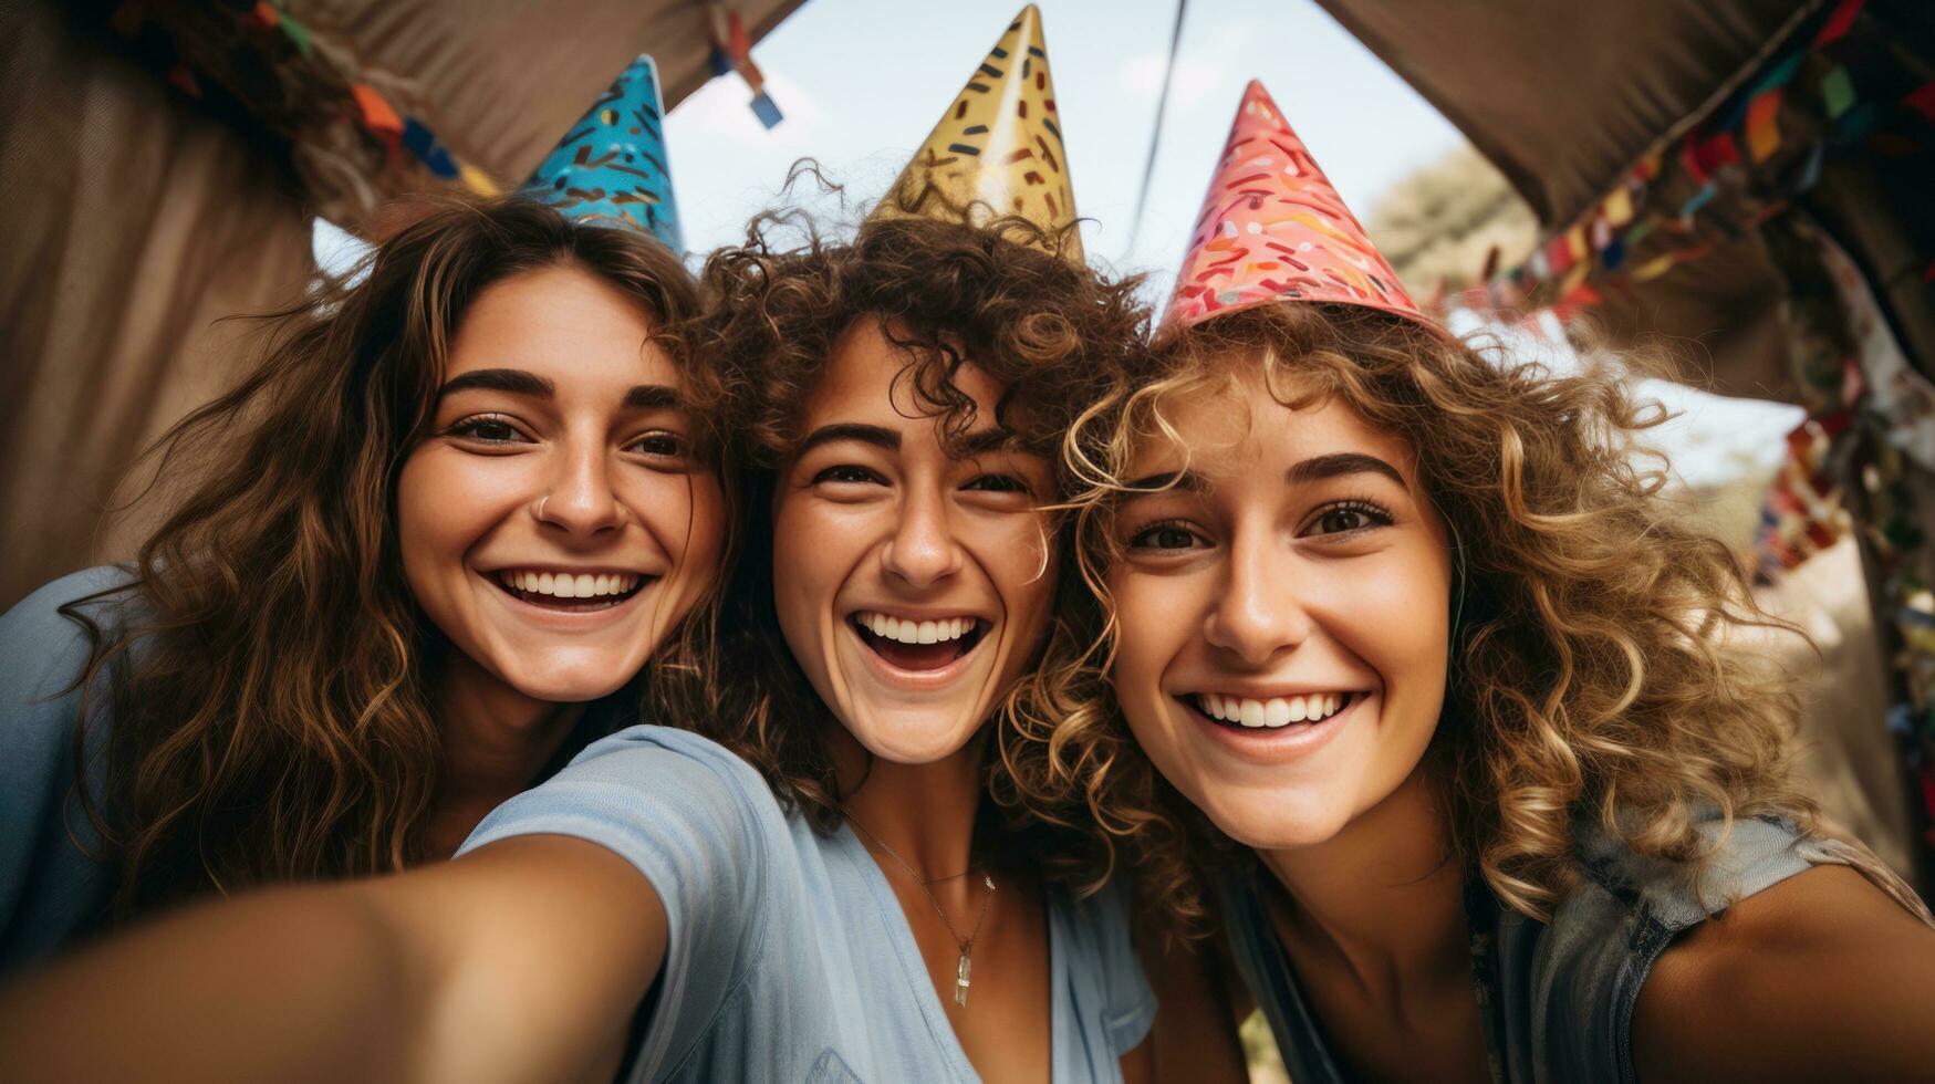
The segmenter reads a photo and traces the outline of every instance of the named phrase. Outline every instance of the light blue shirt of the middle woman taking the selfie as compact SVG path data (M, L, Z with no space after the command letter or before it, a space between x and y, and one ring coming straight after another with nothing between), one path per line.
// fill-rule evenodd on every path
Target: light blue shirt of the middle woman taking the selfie
M666 962L629 1080L977 1080L865 846L784 813L722 745L613 734L499 805L459 854L540 832L619 854L664 900ZM1053 1080L1120 1080L1155 1016L1120 883L1080 902L1049 892L1049 983Z

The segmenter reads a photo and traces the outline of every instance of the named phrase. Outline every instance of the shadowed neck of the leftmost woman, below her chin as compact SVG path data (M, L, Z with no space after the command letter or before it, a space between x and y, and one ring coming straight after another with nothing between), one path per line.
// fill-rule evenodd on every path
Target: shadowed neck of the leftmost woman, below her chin
M536 780L584 716L584 705L526 697L459 650L433 687L443 780L432 848L449 856L486 813Z

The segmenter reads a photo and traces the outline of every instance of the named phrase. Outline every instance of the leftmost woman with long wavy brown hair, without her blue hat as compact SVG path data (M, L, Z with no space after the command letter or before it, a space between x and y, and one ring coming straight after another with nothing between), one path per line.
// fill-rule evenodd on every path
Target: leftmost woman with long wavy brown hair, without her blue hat
M0 617L0 968L447 858L689 670L728 521L697 314L642 230L505 199L267 317L157 445L139 556Z

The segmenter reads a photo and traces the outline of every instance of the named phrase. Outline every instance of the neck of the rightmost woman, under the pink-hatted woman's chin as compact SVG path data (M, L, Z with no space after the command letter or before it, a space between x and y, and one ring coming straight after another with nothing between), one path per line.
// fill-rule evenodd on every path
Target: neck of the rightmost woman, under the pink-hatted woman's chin
M1329 840L1260 858L1289 894L1273 919L1293 956L1339 960L1393 1001L1465 981L1465 871L1422 765Z

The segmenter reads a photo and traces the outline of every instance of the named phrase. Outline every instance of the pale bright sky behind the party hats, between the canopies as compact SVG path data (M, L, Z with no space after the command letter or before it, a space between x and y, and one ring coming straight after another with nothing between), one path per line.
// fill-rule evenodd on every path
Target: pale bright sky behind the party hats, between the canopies
M786 122L766 132L737 77L671 112L671 178L685 240L706 250L780 203L817 159L848 196L877 199L1020 10L1016 0L809 0L753 58ZM1180 261L1242 87L1264 79L1360 213L1391 182L1463 137L1310 0L1190 4L1149 209L1128 248L1161 93L1173 0L1043 0L1084 242L1116 269Z

